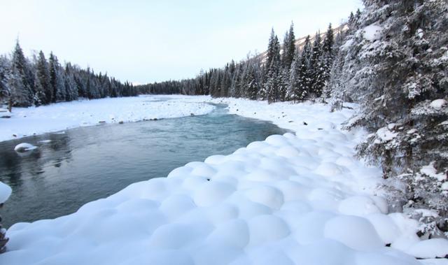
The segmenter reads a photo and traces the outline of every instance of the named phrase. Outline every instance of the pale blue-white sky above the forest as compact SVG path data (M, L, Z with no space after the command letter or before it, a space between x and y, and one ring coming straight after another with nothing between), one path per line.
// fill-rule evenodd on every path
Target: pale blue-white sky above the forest
M0 0L0 54L52 51L134 84L193 78L201 69L338 25L360 0Z

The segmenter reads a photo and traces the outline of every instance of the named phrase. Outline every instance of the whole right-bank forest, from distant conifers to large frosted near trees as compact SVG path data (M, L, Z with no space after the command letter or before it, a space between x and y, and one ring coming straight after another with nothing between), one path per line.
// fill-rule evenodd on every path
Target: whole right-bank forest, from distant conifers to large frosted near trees
M389 200L448 231L448 7L443 0L363 1L344 30L298 48L293 25L281 45L272 30L265 55L196 78L140 86L145 93L211 94L275 101L360 104L347 128L370 131L358 155L381 164ZM430 209L428 210L421 210Z

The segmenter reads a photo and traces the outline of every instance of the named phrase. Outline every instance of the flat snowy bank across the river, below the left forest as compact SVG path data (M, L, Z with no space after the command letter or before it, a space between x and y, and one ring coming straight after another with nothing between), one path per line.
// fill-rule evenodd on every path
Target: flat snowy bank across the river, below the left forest
M134 96L55 103L13 108L0 119L0 141L104 123L204 115L214 109L204 103L209 96Z

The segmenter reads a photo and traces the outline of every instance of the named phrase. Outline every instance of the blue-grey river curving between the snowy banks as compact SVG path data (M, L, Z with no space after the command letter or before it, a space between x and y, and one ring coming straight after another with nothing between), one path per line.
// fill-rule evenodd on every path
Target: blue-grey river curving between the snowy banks
M133 182L165 177L188 162L228 155L284 133L270 122L229 115L225 105L216 105L208 115L80 127L1 142L0 180L13 194L0 215L9 227L74 213ZM38 149L20 155L14 147L22 142Z

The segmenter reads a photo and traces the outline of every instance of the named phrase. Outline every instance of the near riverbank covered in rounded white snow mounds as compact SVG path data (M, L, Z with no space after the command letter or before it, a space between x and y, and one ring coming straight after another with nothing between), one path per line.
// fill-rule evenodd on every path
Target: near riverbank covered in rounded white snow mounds
M71 215L14 224L0 264L399 265L448 254L447 241L421 241L415 220L388 213L381 170L353 158L365 133L339 129L352 110L211 101L295 134L190 162Z

